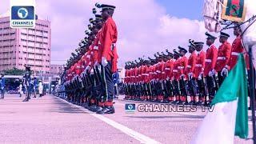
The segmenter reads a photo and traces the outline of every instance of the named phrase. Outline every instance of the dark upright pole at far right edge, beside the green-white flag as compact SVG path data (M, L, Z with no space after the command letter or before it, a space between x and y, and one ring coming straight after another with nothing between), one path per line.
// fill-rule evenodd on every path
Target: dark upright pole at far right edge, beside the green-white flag
M256 144L256 129L255 129L255 77L254 77L254 64L253 64L253 55L252 55L252 47L249 47L249 59L250 59L250 101L251 101L251 112L252 112L252 120L253 120L253 140L254 144Z

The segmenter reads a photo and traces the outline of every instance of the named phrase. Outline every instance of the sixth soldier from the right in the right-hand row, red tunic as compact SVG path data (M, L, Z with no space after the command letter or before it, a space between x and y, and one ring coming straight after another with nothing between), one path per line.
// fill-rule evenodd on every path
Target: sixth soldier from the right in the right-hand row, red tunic
M185 48L182 48L181 46L178 46L179 53L181 55L181 58L178 62L178 76L179 76L179 86L181 90L180 95L180 102L178 104L187 104L187 89L186 89L186 66L187 66L187 58L185 54L187 53L187 50Z

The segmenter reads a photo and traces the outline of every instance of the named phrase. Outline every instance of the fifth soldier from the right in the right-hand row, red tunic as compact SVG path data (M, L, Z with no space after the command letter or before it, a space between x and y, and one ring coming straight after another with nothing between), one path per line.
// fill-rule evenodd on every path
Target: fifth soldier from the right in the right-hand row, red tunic
M196 102L196 94L197 94L197 85L194 78L194 68L197 62L197 54L194 51L195 45L194 41L190 40L189 52L190 58L188 59L187 66L186 66L186 75L188 77L188 91L190 92L190 105L194 105Z

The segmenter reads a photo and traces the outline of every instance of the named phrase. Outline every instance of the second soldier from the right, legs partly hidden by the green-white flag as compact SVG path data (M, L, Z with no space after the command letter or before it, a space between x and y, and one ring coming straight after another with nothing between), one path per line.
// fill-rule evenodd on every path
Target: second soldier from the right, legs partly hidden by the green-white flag
M229 42L227 42L227 39L229 37L230 37L229 34L221 32L220 38L219 38L219 42L221 42L222 45L219 46L218 48L218 58L214 68L218 72L218 86L222 85L222 82L226 77L226 74L222 73L222 70L230 61L231 45Z

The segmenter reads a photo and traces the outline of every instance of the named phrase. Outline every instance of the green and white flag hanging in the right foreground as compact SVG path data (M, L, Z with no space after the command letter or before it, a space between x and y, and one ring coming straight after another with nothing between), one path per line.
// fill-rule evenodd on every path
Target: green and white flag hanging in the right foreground
M191 143L194 144L231 144L234 135L248 136L246 64L242 54L238 63L222 83L208 112Z

